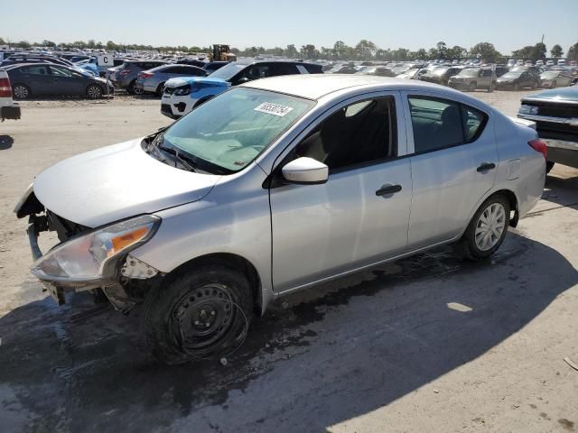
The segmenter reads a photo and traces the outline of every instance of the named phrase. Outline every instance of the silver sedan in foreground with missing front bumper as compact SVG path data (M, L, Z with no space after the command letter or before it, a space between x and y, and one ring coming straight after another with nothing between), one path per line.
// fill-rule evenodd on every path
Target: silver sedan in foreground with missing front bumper
M542 194L533 126L419 81L260 79L61 161L15 211L55 299L144 300L148 343L176 364L235 350L294 290L440 244L488 257ZM44 255L43 230L61 239Z

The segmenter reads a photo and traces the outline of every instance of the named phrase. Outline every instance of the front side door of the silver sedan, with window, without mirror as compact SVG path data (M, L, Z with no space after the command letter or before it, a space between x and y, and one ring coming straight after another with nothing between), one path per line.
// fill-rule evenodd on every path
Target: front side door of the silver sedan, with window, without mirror
M275 171L309 157L329 167L321 185L269 189L273 285L302 288L406 251L412 178L398 93L341 103L310 125ZM274 171L274 172L275 172ZM274 178L275 179L275 178Z

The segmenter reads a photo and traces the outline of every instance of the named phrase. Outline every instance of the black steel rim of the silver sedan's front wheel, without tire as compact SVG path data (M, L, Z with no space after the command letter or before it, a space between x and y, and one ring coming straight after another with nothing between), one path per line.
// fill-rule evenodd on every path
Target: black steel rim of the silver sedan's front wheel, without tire
M187 292L174 304L171 317L182 347L195 353L219 343L236 314L227 286L210 283Z

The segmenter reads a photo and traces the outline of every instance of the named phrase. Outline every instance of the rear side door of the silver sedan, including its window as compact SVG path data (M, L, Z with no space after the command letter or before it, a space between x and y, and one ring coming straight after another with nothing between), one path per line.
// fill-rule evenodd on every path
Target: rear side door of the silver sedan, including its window
M404 92L413 179L408 246L450 240L492 188L498 166L491 118L478 108Z

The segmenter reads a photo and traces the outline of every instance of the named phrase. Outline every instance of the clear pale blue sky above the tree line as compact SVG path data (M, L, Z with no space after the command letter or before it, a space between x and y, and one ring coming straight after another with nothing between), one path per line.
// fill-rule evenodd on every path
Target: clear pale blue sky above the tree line
M489 41L508 54L541 41L564 52L578 41L578 0L2 0L0 37L10 41L115 41L145 45L226 43L318 49L361 39L379 48L470 49ZM11 18L14 17L14 18ZM19 18L16 18L19 17ZM24 20L21 18L25 17Z

